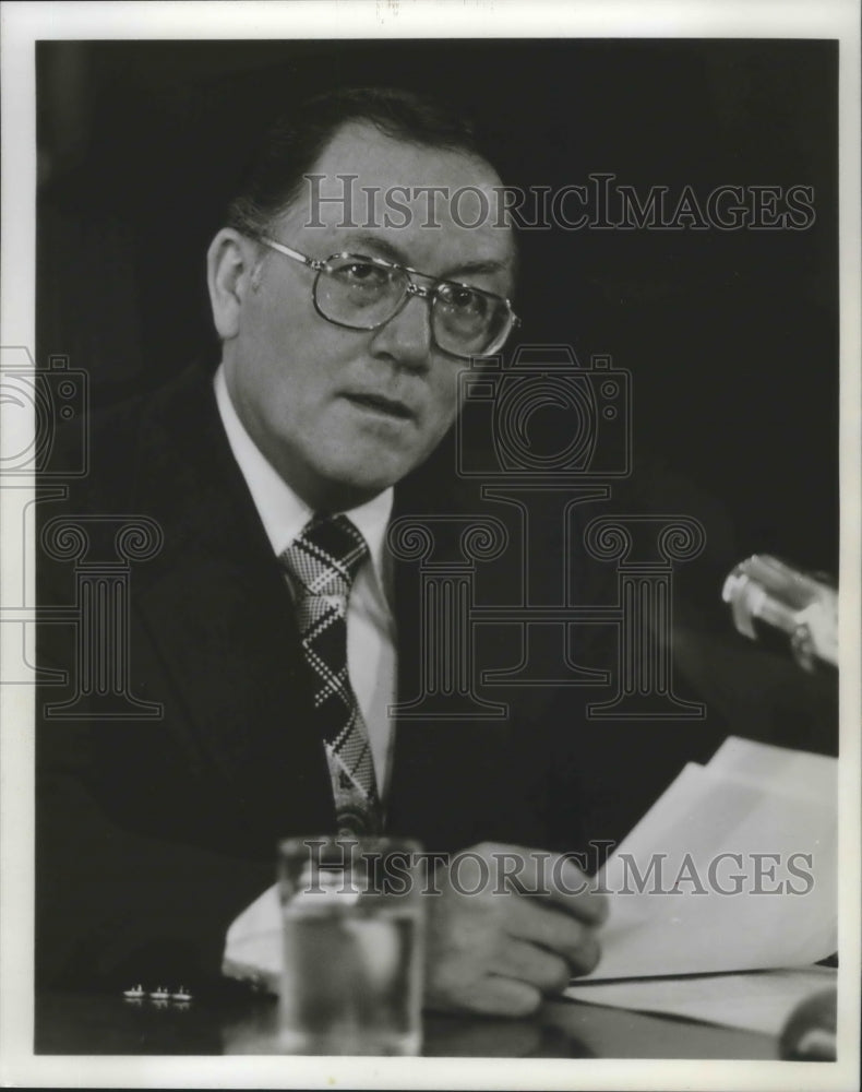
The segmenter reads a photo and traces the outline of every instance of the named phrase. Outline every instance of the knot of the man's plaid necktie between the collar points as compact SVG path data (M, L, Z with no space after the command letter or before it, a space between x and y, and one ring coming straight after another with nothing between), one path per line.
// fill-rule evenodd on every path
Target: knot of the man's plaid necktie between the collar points
M282 554L282 562L309 595L350 593L368 546L346 515L315 515Z

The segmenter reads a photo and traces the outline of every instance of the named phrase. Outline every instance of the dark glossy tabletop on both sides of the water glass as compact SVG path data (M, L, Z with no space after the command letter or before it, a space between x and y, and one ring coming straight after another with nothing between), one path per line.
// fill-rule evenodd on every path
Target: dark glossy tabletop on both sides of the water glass
M50 992L36 998L39 1055L277 1054L272 998L187 1005ZM547 1002L529 1020L428 1016L422 1054L477 1058L775 1059L769 1035L577 1001Z

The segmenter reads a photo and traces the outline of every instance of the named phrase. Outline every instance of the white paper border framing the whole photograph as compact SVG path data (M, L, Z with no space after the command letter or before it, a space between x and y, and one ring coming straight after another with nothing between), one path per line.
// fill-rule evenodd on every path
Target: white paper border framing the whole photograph
M840 43L840 763L842 964L835 1064L592 1059L49 1057L33 1054L33 695L0 691L0 1080L23 1087L849 1089L859 1072L860 969L860 8L811 2L423 0L3 3L0 345L35 346L35 43L41 38L837 38ZM0 497L0 500L2 498ZM2 541L3 591L20 535ZM27 567L32 580L32 566ZM32 648L29 650L32 654ZM7 649L0 648L0 655ZM26 833L23 833L26 832Z

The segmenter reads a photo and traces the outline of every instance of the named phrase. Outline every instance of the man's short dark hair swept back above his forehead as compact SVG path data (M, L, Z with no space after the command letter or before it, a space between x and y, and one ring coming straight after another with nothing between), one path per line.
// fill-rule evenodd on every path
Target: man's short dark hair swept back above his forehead
M369 122L409 144L486 158L472 126L430 97L392 87L328 91L299 104L266 132L228 206L228 227L265 234L301 195L304 176L333 136L351 121Z

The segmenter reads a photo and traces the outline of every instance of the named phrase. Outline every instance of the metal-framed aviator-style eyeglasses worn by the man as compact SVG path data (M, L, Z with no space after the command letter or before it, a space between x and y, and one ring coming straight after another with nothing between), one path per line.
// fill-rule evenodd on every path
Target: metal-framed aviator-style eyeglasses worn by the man
M411 296L431 305L433 344L448 356L469 360L493 356L520 324L512 305L502 296L457 281L441 281L408 265L363 254L309 258L275 239L258 241L316 273L312 288L321 318L348 330L379 330L403 310ZM432 282L422 286L414 277Z

